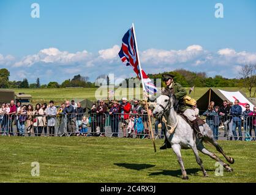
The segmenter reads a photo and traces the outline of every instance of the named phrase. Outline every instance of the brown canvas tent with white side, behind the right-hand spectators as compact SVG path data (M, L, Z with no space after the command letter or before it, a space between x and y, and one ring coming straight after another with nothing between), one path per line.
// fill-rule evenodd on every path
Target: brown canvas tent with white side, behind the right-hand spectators
M247 103L250 105L254 105L254 102L250 101L249 98L247 98L246 94L244 94L242 91L224 91L227 93L233 92L235 93L241 93L241 96L244 96L244 99L246 99ZM222 90L218 90L216 88L209 88L209 90L201 96L197 100L197 107L200 110L200 114L205 112L207 110L209 102L214 101L215 105L222 105L223 101L227 100L230 101L230 98L228 96L225 96ZM235 99L234 99L235 100ZM233 102L233 101L232 101Z

